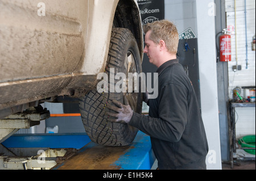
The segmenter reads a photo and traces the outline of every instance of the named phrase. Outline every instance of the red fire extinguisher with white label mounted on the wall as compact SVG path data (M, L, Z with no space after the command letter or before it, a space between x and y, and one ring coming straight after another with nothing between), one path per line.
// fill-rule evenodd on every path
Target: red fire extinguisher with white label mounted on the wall
M231 61L231 35L228 30L222 31L224 35L220 36L220 61Z

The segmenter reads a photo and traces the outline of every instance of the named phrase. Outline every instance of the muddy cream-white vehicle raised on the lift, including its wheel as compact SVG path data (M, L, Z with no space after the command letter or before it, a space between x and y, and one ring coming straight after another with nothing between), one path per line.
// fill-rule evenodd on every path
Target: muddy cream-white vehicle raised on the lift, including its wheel
M129 145L137 129L105 116L106 103L123 93L99 93L97 75L140 73L142 57L136 0L0 0L0 143L31 120L31 107L40 114L41 103L69 97L79 99L92 141ZM141 112L141 92L126 95Z

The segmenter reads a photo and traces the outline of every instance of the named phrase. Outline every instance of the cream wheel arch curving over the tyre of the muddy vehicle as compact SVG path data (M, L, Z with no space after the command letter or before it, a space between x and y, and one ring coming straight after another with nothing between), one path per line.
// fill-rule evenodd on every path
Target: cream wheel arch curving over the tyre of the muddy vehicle
M88 3L88 32L78 74L97 75L104 71L113 27L127 28L133 33L142 60L143 32L137 0L95 0Z

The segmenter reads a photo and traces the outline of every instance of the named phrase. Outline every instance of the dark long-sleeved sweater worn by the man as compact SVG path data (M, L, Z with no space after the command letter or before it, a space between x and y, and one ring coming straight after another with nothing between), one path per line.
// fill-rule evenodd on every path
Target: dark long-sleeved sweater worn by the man
M130 125L151 137L159 169L206 169L208 143L192 83L179 60L157 70L158 98L149 116L134 113Z

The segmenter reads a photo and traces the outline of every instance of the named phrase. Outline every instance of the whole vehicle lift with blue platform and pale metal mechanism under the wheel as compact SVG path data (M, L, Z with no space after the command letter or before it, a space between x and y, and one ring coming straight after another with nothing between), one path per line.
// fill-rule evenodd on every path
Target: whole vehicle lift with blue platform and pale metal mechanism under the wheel
M12 150L19 148L37 155L17 156ZM0 144L0 170L150 170L154 161L150 137L141 131L122 147L97 145L85 133L14 134Z

